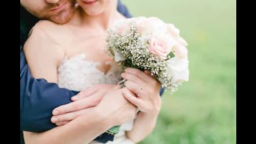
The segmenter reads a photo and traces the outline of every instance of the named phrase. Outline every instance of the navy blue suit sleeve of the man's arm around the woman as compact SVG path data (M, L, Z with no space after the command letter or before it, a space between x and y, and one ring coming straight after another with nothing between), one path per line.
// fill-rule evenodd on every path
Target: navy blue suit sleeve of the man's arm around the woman
M71 102L78 92L61 89L55 83L31 76L20 46L20 130L42 132L56 125L51 123L52 110Z

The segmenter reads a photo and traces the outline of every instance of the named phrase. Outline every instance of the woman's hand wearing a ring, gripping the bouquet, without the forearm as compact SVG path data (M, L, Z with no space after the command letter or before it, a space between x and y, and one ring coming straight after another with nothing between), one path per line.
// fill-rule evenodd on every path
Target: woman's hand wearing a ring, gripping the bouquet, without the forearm
M122 77L126 79L125 86L134 94L124 91L124 97L133 103L138 109L149 116L158 115L161 109L161 83L159 83L148 71L134 68L126 68Z

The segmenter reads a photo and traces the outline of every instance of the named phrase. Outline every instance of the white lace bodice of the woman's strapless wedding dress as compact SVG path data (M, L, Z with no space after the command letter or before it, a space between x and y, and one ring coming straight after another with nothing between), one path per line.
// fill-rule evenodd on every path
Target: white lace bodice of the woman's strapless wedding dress
M117 84L122 69L114 62L106 62L107 73L99 70L100 63L86 60L87 54L78 54L63 60L58 67L58 85L69 90L83 91L97 84Z

